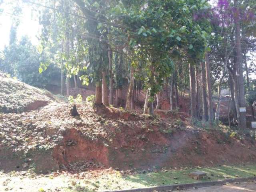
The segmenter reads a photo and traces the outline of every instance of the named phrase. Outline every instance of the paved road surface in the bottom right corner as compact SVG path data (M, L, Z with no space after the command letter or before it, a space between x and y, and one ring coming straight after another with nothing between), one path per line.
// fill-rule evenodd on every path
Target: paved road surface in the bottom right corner
M256 182L245 182L186 190L187 192L256 192Z

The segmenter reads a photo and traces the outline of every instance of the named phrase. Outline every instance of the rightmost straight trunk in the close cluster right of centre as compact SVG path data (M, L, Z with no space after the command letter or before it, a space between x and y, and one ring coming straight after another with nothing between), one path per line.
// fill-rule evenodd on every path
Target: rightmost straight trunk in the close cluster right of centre
M212 107L212 84L210 78L210 63L208 52L205 53L205 72L206 72L206 88L208 98L208 121L213 122L213 107Z

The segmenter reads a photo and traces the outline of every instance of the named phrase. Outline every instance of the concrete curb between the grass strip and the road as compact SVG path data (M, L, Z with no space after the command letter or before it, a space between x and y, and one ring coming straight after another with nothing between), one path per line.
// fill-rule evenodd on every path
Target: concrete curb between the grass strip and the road
M166 185L158 187L149 187L149 188L137 188L137 189L128 189L128 190L117 190L117 191L104 191L104 192L153 192L156 191L168 191L178 189L192 189L192 188L202 188L210 186L220 186L225 183L234 183L234 182L246 182L249 180L256 180L256 177L251 178L236 178L236 179L226 179L218 181L209 181L209 182L200 182L200 183L188 183L188 184L176 184L176 185Z

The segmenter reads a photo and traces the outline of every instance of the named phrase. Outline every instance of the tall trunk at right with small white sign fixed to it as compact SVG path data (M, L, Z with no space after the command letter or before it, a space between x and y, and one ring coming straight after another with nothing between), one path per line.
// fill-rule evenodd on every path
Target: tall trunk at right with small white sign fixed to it
M234 0L234 6L238 10L238 0ZM244 96L244 76L243 76L243 63L242 63L242 50L241 50L241 39L240 39L240 20L239 15L236 16L236 55L237 62L236 68L238 70L238 89L239 89L239 98L240 98L240 107L246 107L245 96ZM240 129L246 129L246 112L240 112L241 117L241 127Z

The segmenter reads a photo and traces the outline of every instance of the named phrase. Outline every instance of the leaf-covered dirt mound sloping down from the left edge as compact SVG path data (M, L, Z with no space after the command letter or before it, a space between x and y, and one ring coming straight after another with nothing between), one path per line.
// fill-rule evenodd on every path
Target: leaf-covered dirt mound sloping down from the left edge
M54 98L50 92L41 90L4 74L0 75L0 112L21 113L46 106Z

